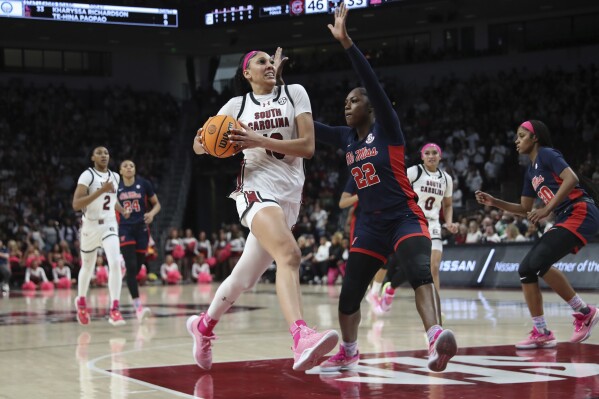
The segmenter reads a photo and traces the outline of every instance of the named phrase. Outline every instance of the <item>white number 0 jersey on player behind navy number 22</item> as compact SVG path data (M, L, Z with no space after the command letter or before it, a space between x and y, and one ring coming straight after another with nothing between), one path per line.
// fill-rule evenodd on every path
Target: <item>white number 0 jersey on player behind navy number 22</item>
M438 221L443 198L451 197L453 193L451 176L441 169L429 172L423 165L408 168L407 174L414 192L418 195L418 206L424 212L424 216L429 220Z

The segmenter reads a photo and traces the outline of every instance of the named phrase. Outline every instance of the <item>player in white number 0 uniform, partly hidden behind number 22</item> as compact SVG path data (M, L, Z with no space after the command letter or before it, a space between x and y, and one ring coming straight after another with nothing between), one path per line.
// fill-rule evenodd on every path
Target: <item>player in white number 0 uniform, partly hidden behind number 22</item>
M435 143L427 143L420 150L422 164L408 168L407 175L414 192L418 195L418 206L428 221L431 235L431 274L437 292L440 292L439 266L443 255L441 240L441 223L439 212L443 208L445 227L450 233L458 232L458 224L453 223L453 180L449 174L439 169L441 148ZM384 313L391 308L395 290L390 283L383 286L382 296L378 301L376 313Z

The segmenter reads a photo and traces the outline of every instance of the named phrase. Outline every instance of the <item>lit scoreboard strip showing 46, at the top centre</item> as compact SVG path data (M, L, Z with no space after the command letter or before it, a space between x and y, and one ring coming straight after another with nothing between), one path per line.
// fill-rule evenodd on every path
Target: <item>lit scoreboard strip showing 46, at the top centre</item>
M215 8L204 16L206 25L220 25L265 17L301 16L333 13L335 7L345 2L348 9L367 9L404 0L289 0L266 6L247 3L235 7Z

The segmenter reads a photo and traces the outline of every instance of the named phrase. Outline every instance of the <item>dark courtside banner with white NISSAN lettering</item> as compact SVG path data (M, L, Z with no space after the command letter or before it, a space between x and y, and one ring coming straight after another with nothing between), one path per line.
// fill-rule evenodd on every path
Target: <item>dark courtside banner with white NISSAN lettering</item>
M532 244L459 245L443 248L441 284L452 287L519 288L518 267ZM575 289L599 288L599 244L583 247L553 265ZM546 287L542 279L541 286Z

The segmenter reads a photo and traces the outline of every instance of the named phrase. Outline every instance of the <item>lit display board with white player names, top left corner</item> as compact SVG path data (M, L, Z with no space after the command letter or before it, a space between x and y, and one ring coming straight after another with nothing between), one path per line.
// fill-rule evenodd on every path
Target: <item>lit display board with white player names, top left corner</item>
M176 28L176 9L37 0L0 0L0 17Z

